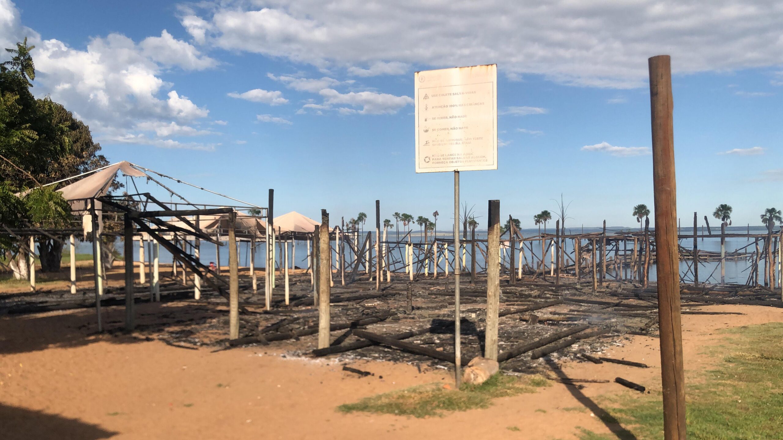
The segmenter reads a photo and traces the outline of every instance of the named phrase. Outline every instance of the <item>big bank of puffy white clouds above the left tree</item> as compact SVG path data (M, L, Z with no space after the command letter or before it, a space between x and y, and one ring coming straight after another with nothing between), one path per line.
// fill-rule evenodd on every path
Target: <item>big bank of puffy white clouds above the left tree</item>
M163 78L168 67L202 70L215 65L215 60L193 45L163 31L160 37L145 38L138 44L122 34L108 34L91 38L85 49L74 49L63 41L41 39L22 26L13 3L0 0L0 44L9 47L25 36L28 44L35 45L32 92L62 103L90 126L96 140L215 148L215 144L162 139L213 134L189 125L207 117L209 111L181 96Z

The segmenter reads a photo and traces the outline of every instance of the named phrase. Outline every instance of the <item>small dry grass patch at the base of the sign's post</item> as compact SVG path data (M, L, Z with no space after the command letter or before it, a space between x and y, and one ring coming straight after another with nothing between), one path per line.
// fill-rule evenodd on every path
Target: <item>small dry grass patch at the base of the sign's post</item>
M492 399L498 397L535 392L535 388L528 382L529 380L498 373L483 384L463 384L459 390L444 388L441 383L426 384L346 403L338 406L337 410L343 413L442 416L447 412L487 408L492 405Z

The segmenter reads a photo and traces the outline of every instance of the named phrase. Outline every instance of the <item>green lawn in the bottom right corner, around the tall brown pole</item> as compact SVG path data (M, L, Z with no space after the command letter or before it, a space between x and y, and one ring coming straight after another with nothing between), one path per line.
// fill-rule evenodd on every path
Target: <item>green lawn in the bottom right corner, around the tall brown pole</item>
M722 359L686 384L687 436L698 440L783 438L783 323L742 326L708 352ZM661 395L626 396L608 409L640 440L660 438ZM616 438L582 431L583 440Z

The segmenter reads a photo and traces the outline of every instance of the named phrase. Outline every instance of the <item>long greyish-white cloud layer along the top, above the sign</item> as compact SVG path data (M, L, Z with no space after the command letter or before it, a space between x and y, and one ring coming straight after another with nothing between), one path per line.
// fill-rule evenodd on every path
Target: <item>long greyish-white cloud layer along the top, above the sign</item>
M195 41L319 68L498 63L504 73L612 88L644 85L647 59L659 53L672 56L675 73L693 73L777 66L783 52L777 0L442 5L223 1L181 21Z

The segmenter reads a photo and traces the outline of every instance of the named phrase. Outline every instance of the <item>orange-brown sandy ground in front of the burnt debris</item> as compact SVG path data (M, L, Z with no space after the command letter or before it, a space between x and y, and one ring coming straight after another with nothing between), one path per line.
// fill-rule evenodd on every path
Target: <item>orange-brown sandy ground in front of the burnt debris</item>
M140 314L171 312L171 305L139 305ZM683 316L685 366L714 362L704 354L716 330L783 321L783 309L721 305L707 311L742 316ZM122 308L107 321L119 326ZM90 335L92 311L51 312L0 319L0 438L222 439L222 438L576 438L577 427L622 432L604 424L601 395L635 393L618 384L563 384L534 395L496 399L489 409L416 419L342 414L335 407L415 384L451 383L446 371L359 362L375 373L357 377L330 359L279 355L282 346L210 353L187 350L144 335ZM141 336L141 337L139 337ZM604 362L564 364L560 374L582 379L624 377L660 389L658 341L633 337L606 356L645 362L640 369ZM552 373L554 375L554 373ZM382 377L382 378L381 378ZM519 427L510 431L507 427Z

